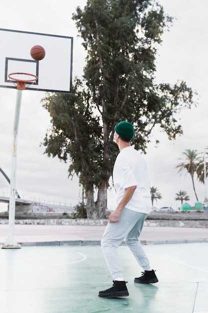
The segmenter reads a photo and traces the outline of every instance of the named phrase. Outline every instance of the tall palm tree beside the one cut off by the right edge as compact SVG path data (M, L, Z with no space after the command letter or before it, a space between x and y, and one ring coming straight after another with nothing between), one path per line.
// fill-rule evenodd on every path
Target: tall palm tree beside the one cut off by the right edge
M201 158L199 157L200 153L198 153L197 150L186 149L185 152L183 152L182 154L185 155L185 158L184 159L179 158L179 159L183 159L184 161L179 163L176 166L176 168L178 168L178 172L181 172L184 169L186 169L188 173L190 173L192 177L192 184L193 184L194 192L195 192L197 201L199 201L197 193L196 193L196 189L195 189L195 184L194 184L194 174L195 172L197 172L198 164L201 160Z

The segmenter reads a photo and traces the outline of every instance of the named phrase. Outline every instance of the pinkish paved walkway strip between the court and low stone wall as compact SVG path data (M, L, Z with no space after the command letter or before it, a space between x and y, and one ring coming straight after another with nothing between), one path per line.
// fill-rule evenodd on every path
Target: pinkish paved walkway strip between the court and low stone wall
M106 226L15 224L15 240L27 245L100 245ZM8 234L8 224L0 224L0 243ZM208 242L208 228L146 226L140 236L144 244Z

